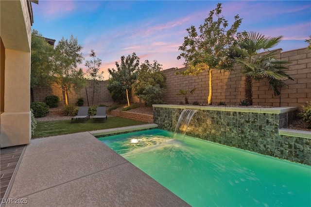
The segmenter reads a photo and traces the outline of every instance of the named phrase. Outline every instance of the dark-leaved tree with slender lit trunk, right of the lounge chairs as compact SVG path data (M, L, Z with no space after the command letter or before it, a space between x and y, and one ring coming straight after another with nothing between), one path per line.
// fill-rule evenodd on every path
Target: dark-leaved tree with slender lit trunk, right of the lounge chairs
M137 80L139 69L139 58L135 52L132 55L121 56L121 64L115 63L117 70L108 68L111 76L107 88L114 101L121 101L124 95L127 99L127 104L130 106L129 96L131 93L132 84Z

